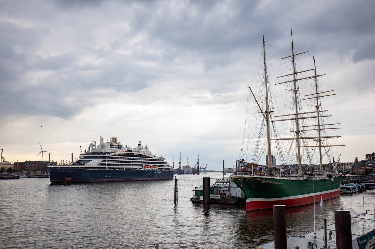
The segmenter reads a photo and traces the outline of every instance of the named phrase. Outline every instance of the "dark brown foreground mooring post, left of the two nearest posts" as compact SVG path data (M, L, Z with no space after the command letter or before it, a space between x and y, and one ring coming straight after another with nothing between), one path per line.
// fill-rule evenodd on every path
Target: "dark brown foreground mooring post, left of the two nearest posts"
M273 205L273 230L275 236L275 249L287 248L285 205Z

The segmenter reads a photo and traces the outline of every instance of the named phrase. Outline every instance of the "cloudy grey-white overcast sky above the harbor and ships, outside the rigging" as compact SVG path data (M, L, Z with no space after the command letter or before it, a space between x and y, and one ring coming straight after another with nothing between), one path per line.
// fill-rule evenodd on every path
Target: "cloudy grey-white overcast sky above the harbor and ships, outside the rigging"
M314 54L341 161L375 150L375 1L0 1L0 146L78 157L103 136L178 165L233 167L262 48ZM279 55L282 56L282 55ZM43 154L43 160L48 153Z

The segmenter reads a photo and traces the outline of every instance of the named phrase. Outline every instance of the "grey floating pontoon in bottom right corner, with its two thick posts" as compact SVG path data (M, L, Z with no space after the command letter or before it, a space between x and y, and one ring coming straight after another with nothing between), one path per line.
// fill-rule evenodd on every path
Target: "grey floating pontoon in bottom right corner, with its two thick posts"
M335 223L318 228L309 233L286 237L284 231L285 215L283 205L274 205L275 241L267 242L255 248L260 249L365 249L373 248L375 242L375 215L357 214L352 210L335 210ZM374 208L375 209L375 208ZM375 211L375 210L374 210ZM276 230L280 234L276 234ZM327 238L328 233L328 238Z

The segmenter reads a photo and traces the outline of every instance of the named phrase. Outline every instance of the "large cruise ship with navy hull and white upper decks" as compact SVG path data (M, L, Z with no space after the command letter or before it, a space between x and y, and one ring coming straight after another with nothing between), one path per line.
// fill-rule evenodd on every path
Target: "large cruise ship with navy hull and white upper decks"
M52 183L112 182L173 179L173 169L164 157L155 156L150 148L141 145L123 147L116 137L99 145L93 140L80 159L71 164L50 163Z

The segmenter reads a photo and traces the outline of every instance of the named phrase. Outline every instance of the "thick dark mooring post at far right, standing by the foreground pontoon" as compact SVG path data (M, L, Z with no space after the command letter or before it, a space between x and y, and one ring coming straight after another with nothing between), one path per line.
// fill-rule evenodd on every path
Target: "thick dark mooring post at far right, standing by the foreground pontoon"
M340 249L353 249L351 237L351 220L349 210L335 210L336 247Z

